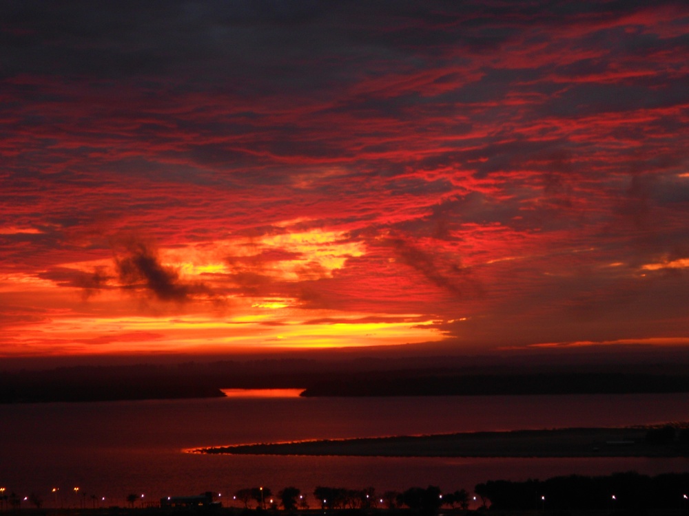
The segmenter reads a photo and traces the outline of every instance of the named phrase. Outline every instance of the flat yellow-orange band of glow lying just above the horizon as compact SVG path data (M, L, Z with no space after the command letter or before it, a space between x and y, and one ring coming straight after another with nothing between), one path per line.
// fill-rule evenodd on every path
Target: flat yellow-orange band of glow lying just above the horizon
M265 314L268 312L268 314ZM2 350L13 354L121 354L170 352L227 352L282 349L322 349L401 345L440 341L442 333L433 321L407 320L309 324L300 319L307 311L292 310L289 321L264 314L243 314L230 319L212 314L185 316L69 316L63 314L16 330L14 346Z

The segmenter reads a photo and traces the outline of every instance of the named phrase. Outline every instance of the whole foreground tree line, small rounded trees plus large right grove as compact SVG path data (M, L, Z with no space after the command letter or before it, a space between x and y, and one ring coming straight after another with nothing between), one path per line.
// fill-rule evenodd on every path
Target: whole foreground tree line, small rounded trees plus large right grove
M490 480L474 492L482 508L491 510L630 510L683 509L689 512L689 473L665 473L650 477L639 473L606 476L568 475L548 480ZM262 508L294 510L309 508L307 497L287 487L273 497L268 488L240 489L236 499L255 500ZM406 491L376 493L373 487L348 489L318 486L313 490L316 507L323 509L411 508L433 514L442 506L469 508L469 493L460 489L444 493L438 486L411 487ZM476 499L476 497L474 497Z

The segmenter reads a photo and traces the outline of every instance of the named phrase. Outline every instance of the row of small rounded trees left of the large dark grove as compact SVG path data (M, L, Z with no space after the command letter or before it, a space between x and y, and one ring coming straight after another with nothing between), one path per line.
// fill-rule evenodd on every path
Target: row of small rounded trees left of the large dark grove
M407 491L385 491L376 494L376 488L348 489L344 487L318 486L313 490L316 506L323 509L366 509L384 506L387 508L409 507L424 513L433 513L441 506L469 508L469 493L460 489L451 493L442 493L438 486L427 488L411 487ZM234 493L234 499L249 508L251 502L258 508L278 508L295 510L309 508L307 497L301 491L289 486L279 491L276 496L267 487L242 488Z

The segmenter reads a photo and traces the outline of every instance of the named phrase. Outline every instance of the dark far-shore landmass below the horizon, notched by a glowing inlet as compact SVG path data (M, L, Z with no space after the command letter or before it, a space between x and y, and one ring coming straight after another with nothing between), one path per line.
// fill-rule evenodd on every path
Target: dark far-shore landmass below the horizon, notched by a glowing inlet
M302 396L480 396L689 392L682 364L462 365L438 359L264 359L81 365L0 372L0 403L223 396L220 389L304 389Z

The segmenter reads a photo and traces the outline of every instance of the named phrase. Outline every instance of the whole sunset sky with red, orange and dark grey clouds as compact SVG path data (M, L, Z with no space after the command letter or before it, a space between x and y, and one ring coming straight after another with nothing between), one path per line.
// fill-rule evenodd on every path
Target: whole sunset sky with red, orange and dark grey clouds
M689 350L688 55L683 1L3 1L0 356Z

